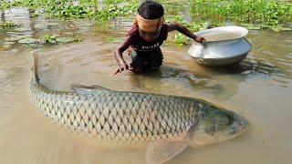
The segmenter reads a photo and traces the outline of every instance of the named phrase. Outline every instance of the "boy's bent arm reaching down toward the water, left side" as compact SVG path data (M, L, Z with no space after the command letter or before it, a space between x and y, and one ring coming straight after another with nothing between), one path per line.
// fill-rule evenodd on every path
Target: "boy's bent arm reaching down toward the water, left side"
M125 62L124 58L122 57L122 53L131 45L130 36L126 37L126 40L115 50L115 58L120 66L120 68L117 70L117 73L120 73L123 70L129 69L129 66Z

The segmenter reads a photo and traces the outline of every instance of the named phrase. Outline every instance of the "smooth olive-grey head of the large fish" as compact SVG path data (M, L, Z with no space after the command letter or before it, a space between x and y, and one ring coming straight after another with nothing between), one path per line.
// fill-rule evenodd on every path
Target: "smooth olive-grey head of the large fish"
M193 131L198 145L213 144L235 138L245 131L248 122L235 112L217 108L209 103L199 103L200 120Z

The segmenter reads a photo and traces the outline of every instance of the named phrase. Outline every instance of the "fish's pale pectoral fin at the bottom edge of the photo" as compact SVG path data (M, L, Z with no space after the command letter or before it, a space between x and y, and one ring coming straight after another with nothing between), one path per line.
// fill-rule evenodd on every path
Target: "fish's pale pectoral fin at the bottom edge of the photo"
M172 159L180 154L188 146L188 141L183 140L159 140L150 143L146 150L147 163L159 164Z

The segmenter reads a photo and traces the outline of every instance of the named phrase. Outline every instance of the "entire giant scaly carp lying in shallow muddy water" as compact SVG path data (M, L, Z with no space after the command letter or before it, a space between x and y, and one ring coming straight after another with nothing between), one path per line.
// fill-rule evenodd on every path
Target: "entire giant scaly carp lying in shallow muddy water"
M30 83L35 107L62 126L100 140L149 143L145 159L162 163L188 146L235 138L245 118L201 99L124 92L104 87L50 90L39 83L36 54Z

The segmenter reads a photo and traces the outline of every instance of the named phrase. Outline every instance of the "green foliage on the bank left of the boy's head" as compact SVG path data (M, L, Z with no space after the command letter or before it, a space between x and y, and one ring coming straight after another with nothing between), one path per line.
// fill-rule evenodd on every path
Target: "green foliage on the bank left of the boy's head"
M97 0L80 0L73 3L68 0L15 0L12 3L4 1L0 9L12 6L26 6L32 9L44 8L47 16L58 18L92 18L109 20L120 16L133 15L138 8L138 2L131 0L104 0L100 11L94 11ZM95 15L95 16L94 16Z

